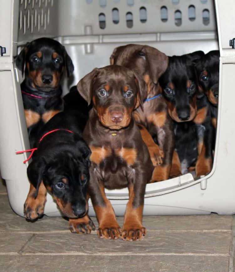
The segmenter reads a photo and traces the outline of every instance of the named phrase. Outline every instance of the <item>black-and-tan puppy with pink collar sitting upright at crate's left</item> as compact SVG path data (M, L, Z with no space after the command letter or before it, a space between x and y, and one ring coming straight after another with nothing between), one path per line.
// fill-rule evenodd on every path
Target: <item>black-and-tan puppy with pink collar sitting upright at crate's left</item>
M69 77L74 66L65 47L49 38L27 43L18 55L16 65L25 76L21 92L29 141L33 147L43 124L63 110L60 81L64 70Z

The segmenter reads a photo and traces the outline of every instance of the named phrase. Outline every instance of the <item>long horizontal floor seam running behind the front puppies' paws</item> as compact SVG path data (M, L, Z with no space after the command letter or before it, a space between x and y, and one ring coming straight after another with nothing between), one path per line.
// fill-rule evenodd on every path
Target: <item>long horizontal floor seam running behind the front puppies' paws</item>
M0 231L0 233L8 233L9 231ZM70 233L70 230L52 230L52 231L11 231L17 234L52 234L52 233ZM212 230L153 230L147 229L147 233L232 233L229 229L212 229ZM91 231L91 234L97 234Z

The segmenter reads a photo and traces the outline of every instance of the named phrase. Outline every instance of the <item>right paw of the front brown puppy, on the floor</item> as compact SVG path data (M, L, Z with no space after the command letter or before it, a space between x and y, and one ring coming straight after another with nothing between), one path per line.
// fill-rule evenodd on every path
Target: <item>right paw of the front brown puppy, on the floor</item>
M123 226L122 239L124 241L139 241L146 236L146 228L143 226Z

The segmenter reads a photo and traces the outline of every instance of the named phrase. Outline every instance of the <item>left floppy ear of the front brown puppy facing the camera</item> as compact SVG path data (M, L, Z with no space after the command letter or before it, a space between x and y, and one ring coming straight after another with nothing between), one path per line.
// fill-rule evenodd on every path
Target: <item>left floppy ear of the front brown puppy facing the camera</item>
M91 97L92 97L92 85L94 79L98 75L98 68L93 69L89 74L84 76L77 84L77 90L81 94L81 97L86 100L88 103L88 106L91 103Z

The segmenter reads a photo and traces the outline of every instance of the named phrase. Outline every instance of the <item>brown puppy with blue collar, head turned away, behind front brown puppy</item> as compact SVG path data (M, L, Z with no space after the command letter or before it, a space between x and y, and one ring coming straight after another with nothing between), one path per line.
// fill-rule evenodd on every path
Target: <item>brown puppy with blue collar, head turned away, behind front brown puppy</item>
M167 105L161 96L158 82L159 76L161 76L167 68L168 57L159 50L147 45L128 44L114 49L110 57L110 63L132 69L137 72L147 84L147 99L144 101L143 109L140 107L137 108L134 117L137 123L147 128L153 138L156 136L157 144L164 154L164 158L160 158L162 164L156 166L158 176L155 181L168 179L171 168L171 176L180 174L177 169L175 171L174 166L171 167L175 145L174 133L172 121L167 111ZM145 135L147 135L147 133L145 133ZM149 148L149 140L146 141L144 135L142 136ZM152 137L150 137L150 139ZM152 150L154 150L154 148L152 148ZM149 149L149 151L151 150ZM154 157L152 153L150 152L151 159ZM162 154L156 151L155 157L162 157ZM152 159L152 161L154 162L154 159Z

